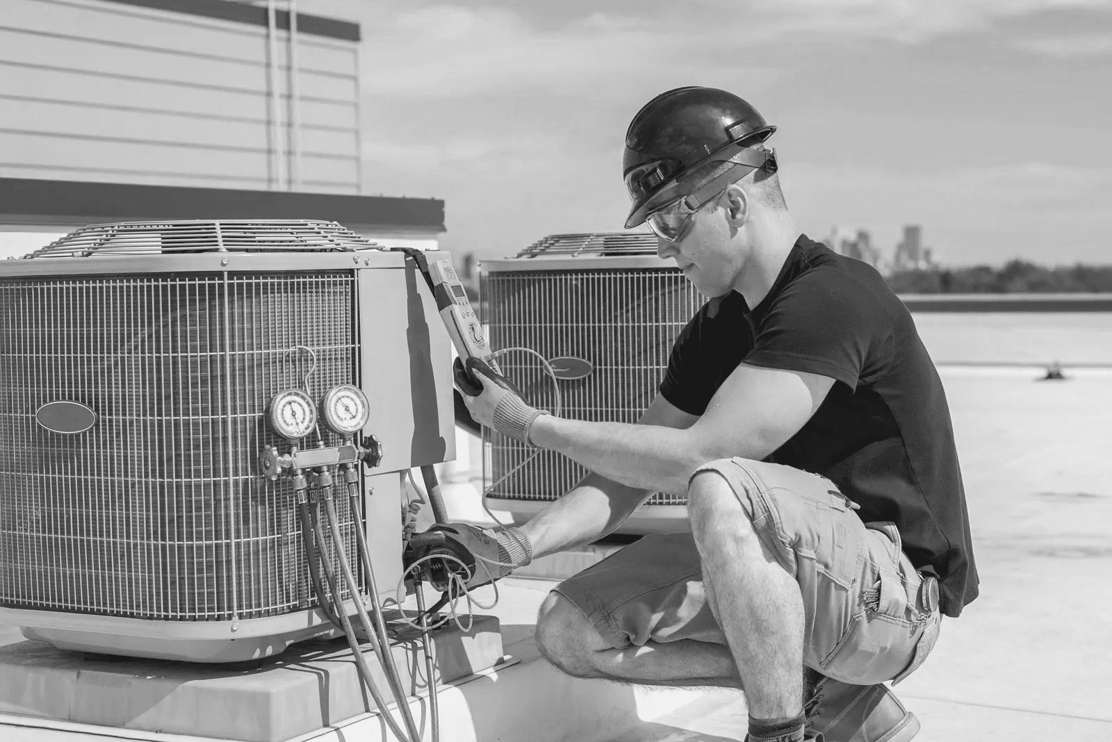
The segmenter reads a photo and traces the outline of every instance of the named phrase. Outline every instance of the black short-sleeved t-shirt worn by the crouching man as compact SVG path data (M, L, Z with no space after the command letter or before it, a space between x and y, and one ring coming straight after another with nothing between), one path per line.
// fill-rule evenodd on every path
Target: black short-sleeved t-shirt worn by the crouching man
M752 311L737 292L707 302L676 340L661 393L703 414L744 361L835 380L814 415L766 460L822 474L904 552L956 616L977 575L942 381L911 313L871 265L801 235Z

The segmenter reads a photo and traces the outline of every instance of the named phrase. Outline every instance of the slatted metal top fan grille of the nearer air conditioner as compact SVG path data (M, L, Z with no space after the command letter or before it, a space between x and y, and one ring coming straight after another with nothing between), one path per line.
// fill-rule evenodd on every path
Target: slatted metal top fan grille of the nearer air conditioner
M26 258L189 252L350 252L374 242L332 221L279 219L91 224Z

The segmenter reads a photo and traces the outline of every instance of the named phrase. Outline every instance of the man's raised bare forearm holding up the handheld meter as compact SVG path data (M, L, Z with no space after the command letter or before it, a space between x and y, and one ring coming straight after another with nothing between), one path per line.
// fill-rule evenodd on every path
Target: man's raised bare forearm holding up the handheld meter
M689 430L583 422L552 415L534 421L529 440L540 448L559 451L615 482L676 494L687 491L687 478L695 468L722 458L716 452L701 450Z

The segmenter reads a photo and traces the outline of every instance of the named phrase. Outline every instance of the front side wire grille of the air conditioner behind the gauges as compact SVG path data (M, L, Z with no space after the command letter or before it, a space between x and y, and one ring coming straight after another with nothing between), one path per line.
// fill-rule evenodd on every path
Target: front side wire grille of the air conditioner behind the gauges
M315 397L355 382L354 302L350 272L0 281L0 602L176 621L315 604L291 485L256 461L280 443L270 397L309 371L290 349L316 353ZM46 430L56 400L97 423Z

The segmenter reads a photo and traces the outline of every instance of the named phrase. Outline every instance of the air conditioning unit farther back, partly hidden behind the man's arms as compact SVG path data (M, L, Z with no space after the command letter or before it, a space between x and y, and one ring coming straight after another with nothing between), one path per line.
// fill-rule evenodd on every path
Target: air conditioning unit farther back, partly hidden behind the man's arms
M706 301L657 257L648 233L547 237L513 258L483 261L479 294L492 348L529 348L567 377L558 382L563 417L629 423L653 401L673 343ZM498 363L530 403L554 409L553 381L535 359L508 352ZM587 473L559 453L490 429L483 441L488 503L515 522ZM686 497L657 492L619 532L686 528Z

